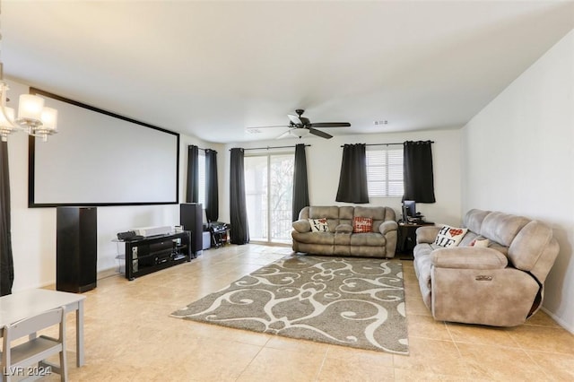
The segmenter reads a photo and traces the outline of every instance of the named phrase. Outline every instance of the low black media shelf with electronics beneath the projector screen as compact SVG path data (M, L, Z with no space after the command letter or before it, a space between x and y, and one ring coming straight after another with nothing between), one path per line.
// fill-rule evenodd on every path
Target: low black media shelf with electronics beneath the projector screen
M126 279L132 281L192 258L191 232L188 230L126 241Z

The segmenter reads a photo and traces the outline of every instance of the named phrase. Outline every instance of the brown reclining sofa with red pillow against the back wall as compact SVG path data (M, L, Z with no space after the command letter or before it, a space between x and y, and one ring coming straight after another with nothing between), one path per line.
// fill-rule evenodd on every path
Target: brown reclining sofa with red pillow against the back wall
M393 257L398 225L389 207L308 206L293 222L293 251L314 255Z

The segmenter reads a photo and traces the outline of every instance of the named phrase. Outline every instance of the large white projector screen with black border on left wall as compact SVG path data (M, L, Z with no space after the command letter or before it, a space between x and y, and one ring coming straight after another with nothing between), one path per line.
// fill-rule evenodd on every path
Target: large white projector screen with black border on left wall
M177 204L179 135L30 88L58 110L48 143L30 136L29 206Z

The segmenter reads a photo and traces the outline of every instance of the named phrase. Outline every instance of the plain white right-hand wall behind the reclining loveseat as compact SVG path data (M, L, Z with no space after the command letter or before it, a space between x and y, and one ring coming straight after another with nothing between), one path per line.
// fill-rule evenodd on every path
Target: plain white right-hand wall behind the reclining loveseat
M574 333L574 30L464 128L463 210L552 226L561 247L544 308Z

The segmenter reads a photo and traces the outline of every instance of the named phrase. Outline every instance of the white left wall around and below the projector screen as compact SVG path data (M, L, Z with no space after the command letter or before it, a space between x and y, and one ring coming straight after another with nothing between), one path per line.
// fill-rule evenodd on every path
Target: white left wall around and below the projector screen
M10 82L13 100L28 87ZM65 134L60 131L58 134ZM135 142L137 140L135 139ZM37 144L49 144L37 143ZM187 145L196 144L222 152L221 144L204 143L181 135L179 140L179 202L185 202ZM14 261L13 291L56 282L56 208L28 208L28 135L8 138ZM221 161L221 160L220 160ZM74 165L74 161L70 161ZM222 183L222 171L219 173ZM150 183L150 187L153 187ZM179 224L178 204L98 207L98 271L117 266L117 232L136 227Z

